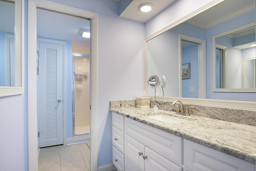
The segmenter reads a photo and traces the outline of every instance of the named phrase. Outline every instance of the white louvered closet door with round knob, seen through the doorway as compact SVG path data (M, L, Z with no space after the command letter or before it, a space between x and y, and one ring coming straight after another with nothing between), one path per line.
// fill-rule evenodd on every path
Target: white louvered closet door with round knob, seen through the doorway
M63 45L39 42L39 147L63 144Z

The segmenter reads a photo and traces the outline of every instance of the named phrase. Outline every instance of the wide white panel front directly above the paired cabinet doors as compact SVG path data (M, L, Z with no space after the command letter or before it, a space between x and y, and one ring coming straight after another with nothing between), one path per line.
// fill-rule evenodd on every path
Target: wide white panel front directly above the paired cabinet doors
M182 164L182 138L124 118L124 130L168 159Z

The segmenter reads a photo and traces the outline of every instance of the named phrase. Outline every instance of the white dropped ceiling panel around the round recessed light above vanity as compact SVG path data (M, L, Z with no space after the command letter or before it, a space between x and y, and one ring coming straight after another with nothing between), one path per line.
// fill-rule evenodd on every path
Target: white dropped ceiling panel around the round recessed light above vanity
M175 0L133 0L122 14L120 14L120 17L139 22L147 22L174 1ZM143 3L151 3L154 6L150 12L141 12L138 10L138 6Z

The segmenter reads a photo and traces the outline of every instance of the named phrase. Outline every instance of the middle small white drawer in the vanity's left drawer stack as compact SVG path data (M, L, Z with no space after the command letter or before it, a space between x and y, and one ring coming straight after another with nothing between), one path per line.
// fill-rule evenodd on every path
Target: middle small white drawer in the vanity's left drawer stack
M112 144L124 153L124 132L112 126Z

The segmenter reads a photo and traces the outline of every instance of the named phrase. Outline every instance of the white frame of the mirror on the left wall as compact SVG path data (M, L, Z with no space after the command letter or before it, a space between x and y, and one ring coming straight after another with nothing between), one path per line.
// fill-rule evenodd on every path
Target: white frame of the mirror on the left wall
M20 87L0 86L0 97L24 93L24 0L9 0L15 2L15 59L20 58L20 71L15 72ZM19 65L19 64L18 64Z

